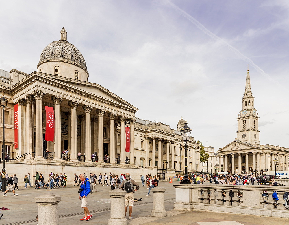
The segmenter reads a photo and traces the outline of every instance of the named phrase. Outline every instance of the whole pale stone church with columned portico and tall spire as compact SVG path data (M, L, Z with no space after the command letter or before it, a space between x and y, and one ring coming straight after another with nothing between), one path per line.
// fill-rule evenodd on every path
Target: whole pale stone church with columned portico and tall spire
M237 138L218 150L219 162L223 162L223 171L233 173L260 173L260 171L289 170L289 149L259 142L259 117L254 108L254 96L251 92L249 69L245 92L242 98L242 110L238 114ZM219 169L221 172L221 170Z

